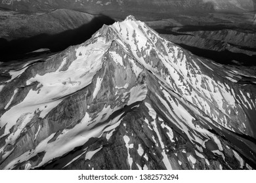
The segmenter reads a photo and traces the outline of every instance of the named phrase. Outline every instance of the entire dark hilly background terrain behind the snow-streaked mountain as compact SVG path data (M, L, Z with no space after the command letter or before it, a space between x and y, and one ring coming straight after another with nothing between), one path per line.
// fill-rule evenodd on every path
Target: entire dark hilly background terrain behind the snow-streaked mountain
M133 14L193 54L219 63L255 66L253 0L0 1L0 7L3 62L54 54L86 41L103 24ZM89 25L95 28L87 29ZM90 33L85 37L81 31ZM28 54L41 48L49 52Z

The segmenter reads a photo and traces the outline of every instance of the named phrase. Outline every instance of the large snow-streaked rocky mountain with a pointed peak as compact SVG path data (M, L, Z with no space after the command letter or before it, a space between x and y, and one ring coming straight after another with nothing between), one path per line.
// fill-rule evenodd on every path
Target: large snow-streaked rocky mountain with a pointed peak
M0 169L256 168L255 73L194 56L132 16L10 68Z

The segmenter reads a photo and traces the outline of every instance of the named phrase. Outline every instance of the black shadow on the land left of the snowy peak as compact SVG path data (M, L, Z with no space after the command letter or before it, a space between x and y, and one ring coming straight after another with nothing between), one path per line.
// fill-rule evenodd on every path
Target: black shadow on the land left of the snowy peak
M24 59L28 57L26 53L33 52L40 48L49 48L51 52L60 52L68 48L68 46L87 41L102 25L110 25L114 24L114 22L112 18L100 15L93 18L88 24L56 35L43 33L34 37L14 41L0 39L0 61L7 62L14 59Z

